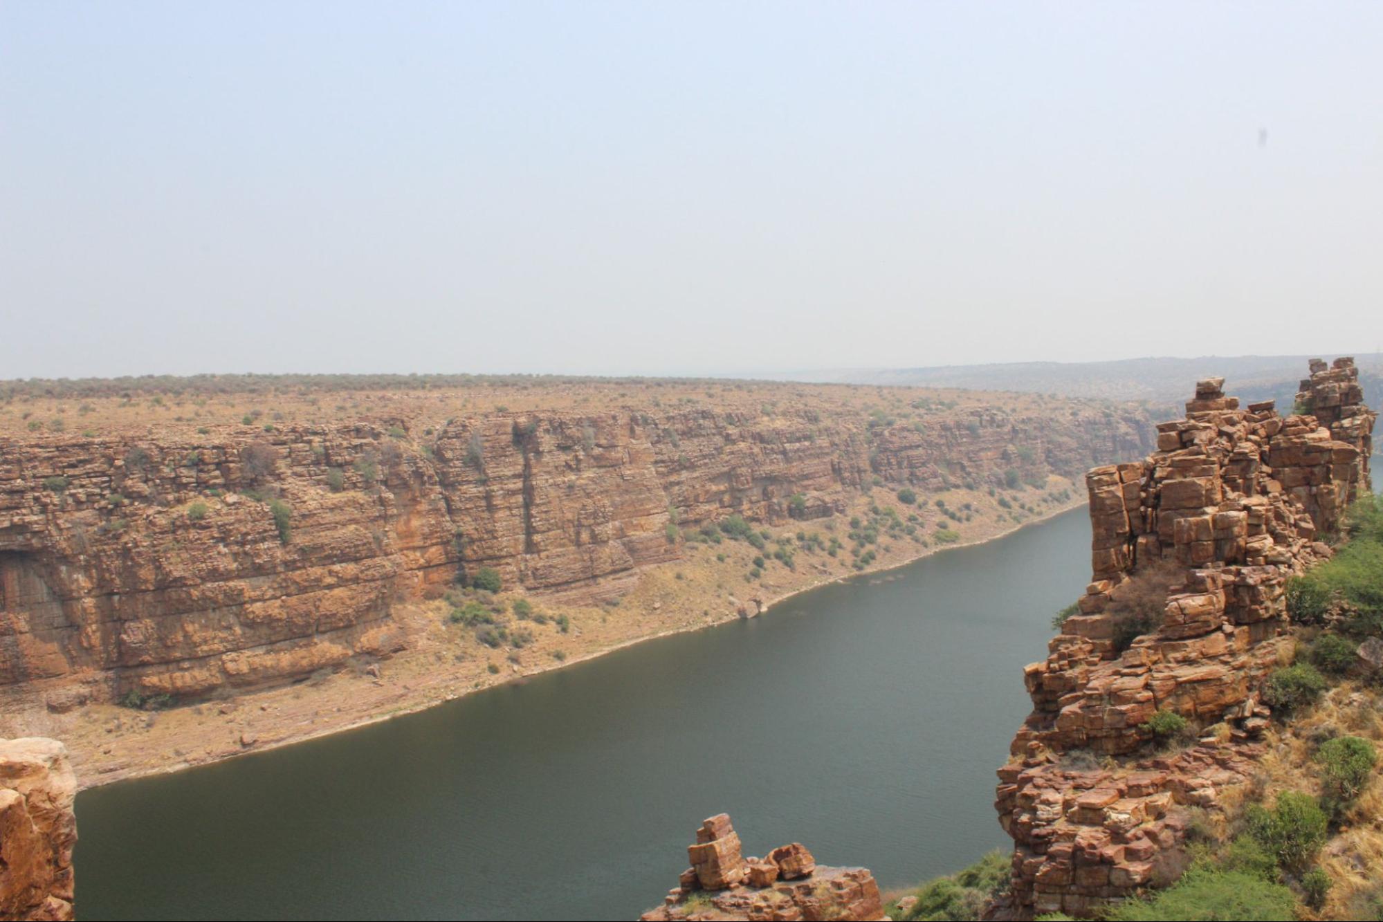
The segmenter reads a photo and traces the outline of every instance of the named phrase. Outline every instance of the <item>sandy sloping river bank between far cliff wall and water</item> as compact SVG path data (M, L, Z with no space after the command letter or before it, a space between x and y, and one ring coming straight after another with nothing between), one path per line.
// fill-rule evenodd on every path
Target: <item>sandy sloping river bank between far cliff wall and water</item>
M64 740L83 789L221 762L416 713L658 637L723 625L744 617L741 611L754 617L835 582L888 579L881 574L942 550L996 540L1084 505L1083 489L1051 478L1048 493L1061 491L1070 496L1068 502L1051 503L1019 524L1000 521L1001 510L985 502L982 493L956 491L950 496L954 507L969 503L975 509L960 540L925 547L907 540L881 542L877 558L862 571L855 571L844 554L819 556L810 563L799 554L794 570L779 567L737 587L733 578L754 567L752 547L729 540L693 545L683 560L640 574L617 607L564 608L560 600L534 597L539 611L561 610L567 630L556 619L545 619L546 625L530 628L535 637L526 650L508 655L472 643L465 632L448 625L444 603L401 604L394 617L408 636L408 648L379 664L167 711L89 705L53 715L35 708L6 719L0 735ZM863 499L851 511L867 516L871 502ZM848 518L834 517L839 520L831 523L834 529L844 529ZM795 528L776 531L791 534Z

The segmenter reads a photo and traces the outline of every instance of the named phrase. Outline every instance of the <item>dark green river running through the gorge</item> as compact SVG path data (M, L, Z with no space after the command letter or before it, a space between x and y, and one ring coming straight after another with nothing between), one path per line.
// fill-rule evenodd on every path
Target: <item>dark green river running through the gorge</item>
M84 791L83 919L624 919L700 821L902 886L1008 843L1084 509L349 733Z

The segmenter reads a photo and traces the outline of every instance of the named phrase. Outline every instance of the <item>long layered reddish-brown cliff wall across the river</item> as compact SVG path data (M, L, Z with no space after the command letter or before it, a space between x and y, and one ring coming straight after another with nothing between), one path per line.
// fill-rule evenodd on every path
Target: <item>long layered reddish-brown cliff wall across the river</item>
M780 523L795 493L819 517L875 476L1070 471L1140 451L1140 422L985 411L914 429L799 405L0 440L0 702L300 677L400 650L391 607L458 571L599 600L679 554L674 516Z

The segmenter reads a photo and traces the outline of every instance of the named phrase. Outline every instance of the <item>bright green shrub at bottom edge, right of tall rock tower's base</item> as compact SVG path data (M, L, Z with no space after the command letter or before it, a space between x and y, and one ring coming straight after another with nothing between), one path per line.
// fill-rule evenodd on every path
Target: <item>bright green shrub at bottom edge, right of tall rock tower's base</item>
M1238 871L1195 865L1164 890L1138 900L1126 900L1105 918L1117 922L1144 919L1264 919L1294 918L1296 900L1281 883Z

